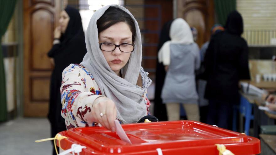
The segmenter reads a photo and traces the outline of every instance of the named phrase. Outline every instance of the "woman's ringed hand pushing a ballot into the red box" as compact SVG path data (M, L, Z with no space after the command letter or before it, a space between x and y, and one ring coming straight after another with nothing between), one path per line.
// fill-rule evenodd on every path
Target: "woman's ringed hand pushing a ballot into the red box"
M115 131L115 123L117 111L115 103L106 97L97 98L92 106L93 121L100 123L102 126Z

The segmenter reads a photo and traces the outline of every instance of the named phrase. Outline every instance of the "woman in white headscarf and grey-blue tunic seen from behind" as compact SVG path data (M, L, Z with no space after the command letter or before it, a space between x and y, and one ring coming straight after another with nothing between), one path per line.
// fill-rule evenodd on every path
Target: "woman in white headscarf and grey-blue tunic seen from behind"
M182 103L188 120L199 121L198 94L194 71L200 67L199 47L191 29L182 18L173 20L170 41L163 44L158 61L167 71L161 98L166 104L168 120L180 119Z

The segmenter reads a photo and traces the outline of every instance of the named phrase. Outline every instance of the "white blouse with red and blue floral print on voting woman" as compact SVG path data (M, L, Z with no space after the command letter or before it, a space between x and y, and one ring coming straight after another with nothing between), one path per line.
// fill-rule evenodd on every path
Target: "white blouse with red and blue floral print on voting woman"
M143 72L143 73L142 73ZM141 68L141 75L148 75ZM142 86L146 82L142 76ZM63 70L61 84L61 116L65 118L67 130L74 127L91 127L97 123L92 122L91 107L93 102L102 96L93 75L83 65L70 64ZM151 105L147 93L143 95L149 115Z

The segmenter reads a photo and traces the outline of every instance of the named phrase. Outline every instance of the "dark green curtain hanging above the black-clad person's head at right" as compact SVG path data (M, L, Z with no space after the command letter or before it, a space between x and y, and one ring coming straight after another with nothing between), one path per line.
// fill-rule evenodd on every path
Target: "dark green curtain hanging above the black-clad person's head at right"
M236 0L214 0L214 2L218 22L224 26L228 14L236 10Z

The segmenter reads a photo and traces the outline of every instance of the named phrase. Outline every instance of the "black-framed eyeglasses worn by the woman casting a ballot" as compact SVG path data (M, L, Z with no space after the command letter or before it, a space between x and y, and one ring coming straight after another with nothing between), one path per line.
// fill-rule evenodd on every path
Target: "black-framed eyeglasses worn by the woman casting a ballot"
M135 45L132 44L112 44L112 43L101 43L99 44L100 49L103 51L107 51L107 52L111 52L114 51L116 49L116 47L119 47L120 51L125 52L125 53L129 53L129 52L133 52L134 51L134 47Z

